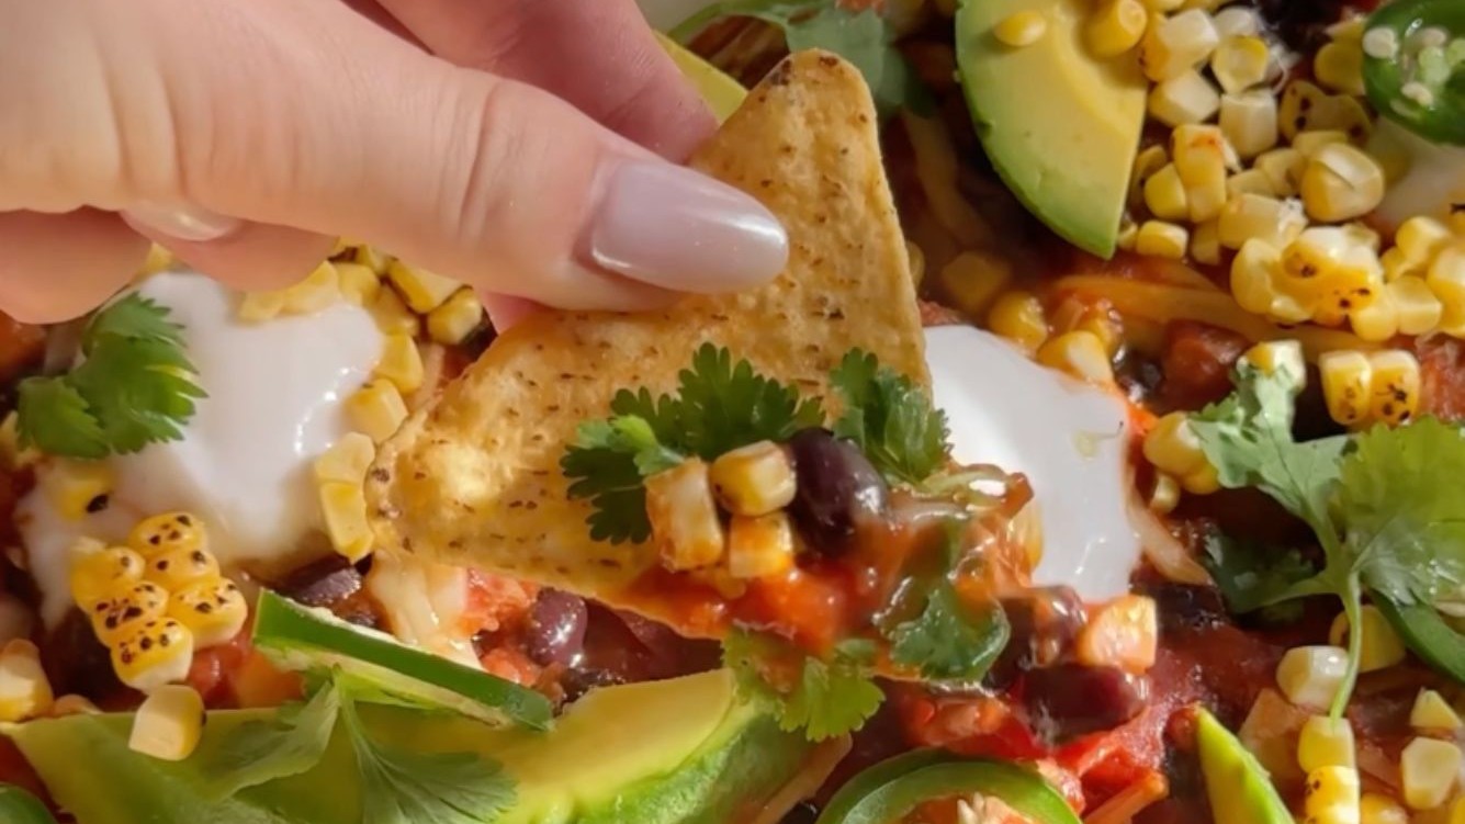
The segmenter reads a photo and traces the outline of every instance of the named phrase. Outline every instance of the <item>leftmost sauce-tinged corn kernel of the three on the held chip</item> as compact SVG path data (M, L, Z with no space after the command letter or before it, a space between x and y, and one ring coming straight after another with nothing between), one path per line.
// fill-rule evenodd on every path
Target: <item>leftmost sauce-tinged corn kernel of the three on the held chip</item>
M646 515L661 562L674 572L715 566L727 536L708 465L697 458L646 479Z

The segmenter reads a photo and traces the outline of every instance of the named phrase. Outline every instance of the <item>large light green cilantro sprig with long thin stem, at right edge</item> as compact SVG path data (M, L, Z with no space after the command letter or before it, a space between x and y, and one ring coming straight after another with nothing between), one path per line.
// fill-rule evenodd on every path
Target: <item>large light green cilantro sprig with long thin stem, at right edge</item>
M1465 493L1453 473L1465 465L1465 436L1425 417L1298 443L1294 398L1304 379L1289 363L1267 372L1242 362L1236 391L1191 420L1222 486L1266 492L1313 528L1323 550L1320 572L1288 584L1273 574L1272 591L1253 593L1253 606L1329 594L1342 600L1349 625L1360 626L1365 591L1417 604L1459 587ZM1361 632L1349 632L1349 669L1330 708L1335 717L1357 683L1360 650Z

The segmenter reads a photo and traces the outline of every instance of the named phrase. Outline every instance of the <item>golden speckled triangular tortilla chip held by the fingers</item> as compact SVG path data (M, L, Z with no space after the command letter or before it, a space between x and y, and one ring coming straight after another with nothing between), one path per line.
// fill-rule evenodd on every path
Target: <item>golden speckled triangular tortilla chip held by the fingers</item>
M576 427L607 417L618 389L672 392L708 341L831 404L829 370L856 347L929 385L875 105L853 66L794 54L691 165L784 221L787 271L662 313L545 312L514 326L382 446L366 483L378 552L472 565L715 634L678 621L670 603L630 599L628 584L658 566L650 544L590 540L590 506L570 499L560 471Z

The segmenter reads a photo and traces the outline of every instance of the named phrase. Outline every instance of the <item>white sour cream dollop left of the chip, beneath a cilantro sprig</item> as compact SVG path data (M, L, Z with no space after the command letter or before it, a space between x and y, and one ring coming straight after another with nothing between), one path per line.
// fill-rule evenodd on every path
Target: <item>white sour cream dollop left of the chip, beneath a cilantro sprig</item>
M67 521L47 495L50 468L19 505L42 618L70 606L67 550L81 536L126 539L148 515L186 509L209 530L226 568L293 553L321 527L311 464L349 432L341 401L381 357L382 337L366 310L346 303L315 315L248 323L239 296L193 272L148 278L139 291L182 323L198 383L208 398L183 439L111 458L116 493L107 511Z

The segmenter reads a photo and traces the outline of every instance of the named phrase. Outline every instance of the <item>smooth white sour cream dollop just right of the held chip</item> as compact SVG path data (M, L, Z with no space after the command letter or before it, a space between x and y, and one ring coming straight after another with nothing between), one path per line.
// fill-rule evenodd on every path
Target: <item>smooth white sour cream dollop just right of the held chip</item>
M926 360L955 458L1024 473L1033 484L1043 531L1034 583L1067 584L1084 600L1130 591L1140 537L1125 514L1124 401L970 326L926 329Z

